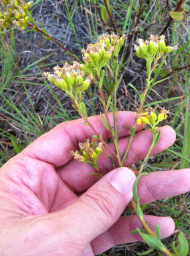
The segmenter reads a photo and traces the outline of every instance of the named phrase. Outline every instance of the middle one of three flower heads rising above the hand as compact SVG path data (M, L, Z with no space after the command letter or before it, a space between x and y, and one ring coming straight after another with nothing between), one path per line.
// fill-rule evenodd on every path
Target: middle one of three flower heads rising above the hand
M117 57L118 53L125 42L126 36L115 34L102 34L97 43L88 44L87 49L82 49L84 65L82 69L85 73L92 73L95 68L102 68L111 59Z

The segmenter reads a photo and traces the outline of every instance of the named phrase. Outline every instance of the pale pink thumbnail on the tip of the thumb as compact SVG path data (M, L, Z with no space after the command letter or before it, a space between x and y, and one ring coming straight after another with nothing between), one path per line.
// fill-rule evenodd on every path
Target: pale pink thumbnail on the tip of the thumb
M111 175L109 182L117 191L127 195L133 188L136 179L134 172L126 167L120 167Z

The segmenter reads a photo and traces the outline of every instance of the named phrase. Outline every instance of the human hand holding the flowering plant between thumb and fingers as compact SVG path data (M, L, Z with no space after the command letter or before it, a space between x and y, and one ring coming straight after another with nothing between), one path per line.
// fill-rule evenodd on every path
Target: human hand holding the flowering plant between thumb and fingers
M113 115L110 113L113 124ZM123 125L132 126L135 113L118 112L120 154L128 141ZM89 118L103 139L110 138L100 116ZM76 162L68 155L93 131L83 120L64 122L31 143L8 161L0 172L0 255L2 256L92 256L116 244L141 238L130 232L140 222L134 216L122 216L132 199L133 172L125 167L112 170L105 148L98 159L102 179L91 166ZM126 166L143 159L151 145L152 133L137 126ZM175 141L169 126L161 129L157 154ZM110 147L113 147L110 143ZM114 147L113 147L114 149ZM106 174L107 173L107 174ZM180 182L179 182L180 181ZM153 172L140 178L140 203L175 196L190 189L189 170ZM86 191L87 190L87 191ZM76 193L84 193L77 197ZM169 217L145 215L150 228L160 226L162 237L174 231Z

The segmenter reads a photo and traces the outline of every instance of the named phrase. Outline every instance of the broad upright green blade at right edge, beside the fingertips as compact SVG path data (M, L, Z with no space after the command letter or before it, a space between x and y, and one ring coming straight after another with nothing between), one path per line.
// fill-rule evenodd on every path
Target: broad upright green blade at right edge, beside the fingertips
M189 109L188 102L186 105L186 115L185 115L185 129L184 129L184 139L183 139L183 148L182 154L185 156L189 156L190 154L190 119L189 119ZM181 159L180 161L180 169L184 169L188 167L188 162L185 159Z

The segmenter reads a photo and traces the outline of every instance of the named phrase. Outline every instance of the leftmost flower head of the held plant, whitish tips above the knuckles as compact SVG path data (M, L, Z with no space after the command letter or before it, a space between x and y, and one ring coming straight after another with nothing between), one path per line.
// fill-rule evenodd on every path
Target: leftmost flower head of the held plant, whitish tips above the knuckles
M54 74L45 72L49 82L55 84L57 87L65 91L72 99L81 96L81 93L89 87L93 76L85 77L84 71L81 70L80 63L74 61L73 65L66 62L64 66L54 67Z

